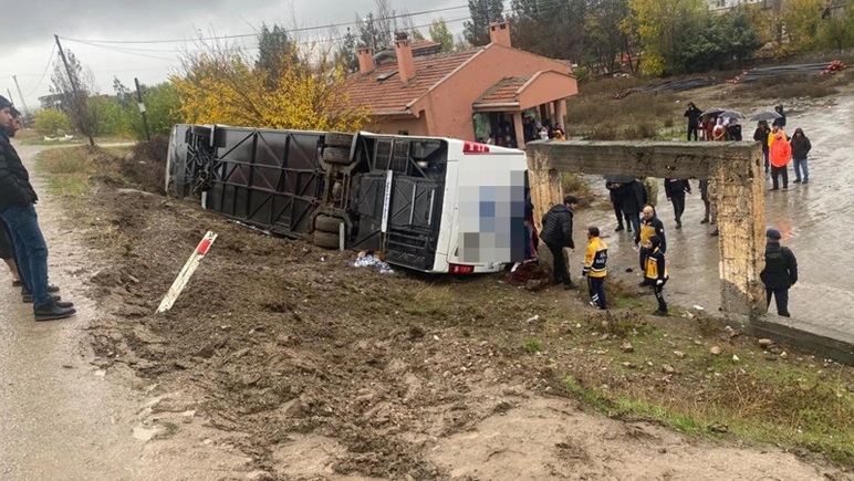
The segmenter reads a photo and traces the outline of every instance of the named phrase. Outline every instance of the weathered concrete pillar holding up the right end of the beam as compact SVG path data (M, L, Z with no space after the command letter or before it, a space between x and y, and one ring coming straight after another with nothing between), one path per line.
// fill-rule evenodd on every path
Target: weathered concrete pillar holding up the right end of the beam
M762 155L720 159L709 180L718 208L721 310L756 318L766 313L759 273L764 264L764 192Z

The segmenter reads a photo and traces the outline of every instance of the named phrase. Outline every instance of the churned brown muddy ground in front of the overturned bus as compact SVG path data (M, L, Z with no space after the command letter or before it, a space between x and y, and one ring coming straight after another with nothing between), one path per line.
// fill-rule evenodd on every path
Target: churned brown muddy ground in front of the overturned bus
M95 363L107 377L131 367L150 396L165 395L152 406L163 436L179 439L187 411L226 432L208 441L248 456L247 478L850 479L726 429L698 441L610 419L567 390L573 373L601 373L580 378L704 401L716 378L663 368L681 369L657 343L648 365L613 367L627 336L643 351L645 335L678 333L673 347L700 363L712 345L726 355L754 344L701 313L654 318L648 296L612 289L617 309L601 314L576 291L533 292L503 274L383 275L350 266L352 252L138 190L100 187L69 209L96 252L80 273L102 313ZM207 230L219 234L210 253L175 307L154 315Z

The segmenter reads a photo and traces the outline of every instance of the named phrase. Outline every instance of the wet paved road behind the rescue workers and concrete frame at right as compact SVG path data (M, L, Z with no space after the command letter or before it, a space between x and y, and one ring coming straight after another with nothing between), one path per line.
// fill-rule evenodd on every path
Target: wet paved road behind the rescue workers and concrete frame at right
M812 143L810 184L792 184L789 166L789 191L766 192L766 224L783 233L782 244L792 249L799 262L799 282L790 290L791 320L778 317L773 302L769 316L802 330L854 343L854 234L847 222L854 213L854 128L847 123L854 116L854 97L842 97L832 107L816 107L788 116L787 133L798 127ZM752 133L752 130L751 130ZM604 181L597 182L607 196ZM771 179L766 177L766 188ZM700 224L702 201L697 181L694 195L687 196L683 229L674 229L673 206L659 180L657 211L665 223L667 262L670 282L665 289L668 302L683 306L700 305L709 312L720 307L717 238L714 227ZM605 197L606 198L606 197ZM614 232L611 210L580 212L576 237L583 239L583 227L600 226L611 254L610 268L617 275L638 275L637 254L631 234ZM572 265L581 261L579 251ZM626 268L634 273L624 273ZM577 269L575 269L577 270ZM575 274L575 272L573 272ZM625 278L624 278L625 279ZM639 280L639 278L637 278Z

